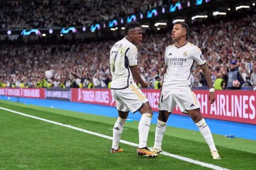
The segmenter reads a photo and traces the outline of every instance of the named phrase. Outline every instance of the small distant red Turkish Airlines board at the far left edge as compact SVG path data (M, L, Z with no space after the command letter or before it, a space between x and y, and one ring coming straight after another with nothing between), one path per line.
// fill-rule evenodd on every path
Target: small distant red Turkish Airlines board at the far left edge
M0 88L0 95L45 99L44 88Z

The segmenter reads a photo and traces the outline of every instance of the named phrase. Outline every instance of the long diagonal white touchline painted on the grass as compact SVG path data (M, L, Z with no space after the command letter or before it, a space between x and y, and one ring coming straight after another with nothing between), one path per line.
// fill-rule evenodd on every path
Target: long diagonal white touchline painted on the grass
M0 107L0 109L5 110L5 111L9 111L9 112L12 112L12 113L16 113L16 114L19 114L19 115L22 115L22 116L27 116L27 117L30 117L30 118L33 118L33 119L38 119L38 120L41 120L41 121L44 121L44 122L49 122L49 123L52 123L52 124L55 124L55 125L60 125L60 126L68 127L70 129L79 130L79 131L84 132L84 133L89 133L89 134L92 134L92 135L95 135L95 136L100 136L100 137L112 140L111 136L102 135L102 134L96 133L96 132L91 132L89 130L81 129L79 127L74 127L74 126L71 126L71 125L65 125L65 124L62 124L62 123L54 122L52 120L43 119L43 118L36 117L36 116L31 116L31 115L28 115L28 114L25 114L25 113L13 111L13 110L2 108L2 107ZM120 142L124 143L124 144L128 144L128 145L134 146L134 147L138 147L139 146L136 143L128 142L128 141L125 141L125 140L120 140ZM182 161L187 161L187 162L190 162L192 164L198 164L198 165L201 165L202 167L208 167L208 168L211 168L213 170L229 170L229 169L224 168L224 167L219 167L217 165L208 164L208 163L205 163L205 162L197 161L197 160L194 160L194 159L186 158L184 156L179 156L179 155L175 155L175 154L164 152L164 151L163 151L162 155L170 156L172 158L180 159Z

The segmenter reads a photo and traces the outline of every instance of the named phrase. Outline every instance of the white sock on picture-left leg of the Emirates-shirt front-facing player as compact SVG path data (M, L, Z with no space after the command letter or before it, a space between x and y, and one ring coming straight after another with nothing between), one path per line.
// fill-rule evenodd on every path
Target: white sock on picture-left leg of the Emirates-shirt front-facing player
M157 119L157 127L156 127L156 133L155 133L155 142L154 142L154 148L155 149L161 149L162 146L162 140L163 140L163 134L166 131L166 122L162 122Z

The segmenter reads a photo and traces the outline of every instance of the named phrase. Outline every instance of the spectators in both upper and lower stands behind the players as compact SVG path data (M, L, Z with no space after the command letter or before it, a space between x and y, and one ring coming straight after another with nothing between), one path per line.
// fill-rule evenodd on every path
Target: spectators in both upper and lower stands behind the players
M113 1L113 0L112 0ZM148 10L151 6L163 6L170 0L144 0L136 3L128 0L131 8L122 9L118 0L81 1L26 1L1 3L1 28L33 28L55 26L79 26L109 20L113 16ZM99 10L108 4L108 11ZM111 5L112 4L112 5ZM119 6L119 8L116 7ZM123 5L123 4L122 4ZM15 8L12 8L15 6ZM67 10L67 8L69 10ZM111 10L117 8L119 10ZM35 9L35 10L34 10ZM72 10L70 10L72 9ZM47 16L42 11L47 11ZM20 12L23 11L23 12ZM84 15L83 15L84 14ZM35 15L36 17L31 17ZM80 17L76 17L79 15ZM56 16L56 17L53 17ZM100 17L99 17L100 16ZM72 23L67 20L71 20ZM174 42L172 30L146 31L139 49L138 68L145 81L156 88L163 79L164 51ZM207 20L190 25L188 42L197 45L207 59L212 82L218 79L219 90L229 88L229 76L236 71L234 88L256 87L256 14L248 13L240 18ZM109 88L109 51L117 40L93 40L90 42L0 42L0 86L23 88ZM238 70L238 71L237 71ZM193 87L207 86L200 67L192 68ZM158 87L159 88L159 87Z

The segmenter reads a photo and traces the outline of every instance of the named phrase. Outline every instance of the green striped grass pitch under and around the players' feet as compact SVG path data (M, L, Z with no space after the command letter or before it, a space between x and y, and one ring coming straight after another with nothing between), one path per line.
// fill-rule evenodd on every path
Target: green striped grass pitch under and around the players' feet
M115 118L1 101L0 107L112 136ZM139 114L139 113L137 113ZM148 146L154 144L154 124ZM138 122L126 122L122 139L138 143ZM194 134L193 134L194 133ZM124 153L110 153L112 141L77 130L0 110L0 170L49 169L195 169L206 167L169 156L136 156L136 147L120 143ZM163 150L229 169L255 169L256 141L213 135L222 157L213 160L197 131L168 127Z

